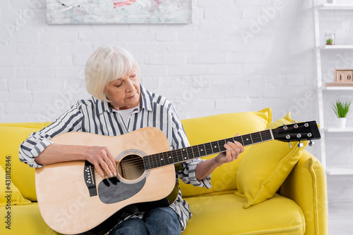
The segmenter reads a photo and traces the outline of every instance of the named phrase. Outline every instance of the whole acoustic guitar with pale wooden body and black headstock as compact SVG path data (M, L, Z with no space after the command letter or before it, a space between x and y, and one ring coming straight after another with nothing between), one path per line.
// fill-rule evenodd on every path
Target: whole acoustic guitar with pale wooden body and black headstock
M160 129L145 127L121 136L68 132L55 136L56 144L108 146L119 160L117 177L103 179L88 161L45 165L35 170L37 201L44 221L61 234L109 231L113 215L128 205L153 206L175 186L174 165L225 151L227 141L250 146L265 141L320 139L315 121L283 125L275 129L170 150ZM150 204L150 205L149 205ZM104 226L102 226L104 224Z

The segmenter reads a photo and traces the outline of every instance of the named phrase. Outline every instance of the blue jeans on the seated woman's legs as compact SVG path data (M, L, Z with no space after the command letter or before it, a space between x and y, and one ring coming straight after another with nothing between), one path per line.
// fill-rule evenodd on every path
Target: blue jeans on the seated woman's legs
M145 220L130 218L118 224L109 235L180 235L179 218L172 208L155 208Z

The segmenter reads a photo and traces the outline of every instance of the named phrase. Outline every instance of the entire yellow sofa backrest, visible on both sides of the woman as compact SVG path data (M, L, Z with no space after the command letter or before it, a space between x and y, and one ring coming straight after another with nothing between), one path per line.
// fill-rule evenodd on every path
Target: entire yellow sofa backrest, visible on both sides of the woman
M265 129L272 122L270 108L258 112L227 113L203 118L181 120L191 146L210 141L227 139L235 134L249 134ZM37 201L35 193L35 169L21 163L18 148L32 132L37 132L50 122L25 122L0 124L0 165L5 169L6 157L11 158L11 180L22 195L30 201ZM247 151L247 148L245 148ZM246 152L245 152L246 153ZM212 174L213 188L203 189L180 182L184 196L195 196L237 189L237 169L241 158L218 167ZM205 157L213 158L214 155Z

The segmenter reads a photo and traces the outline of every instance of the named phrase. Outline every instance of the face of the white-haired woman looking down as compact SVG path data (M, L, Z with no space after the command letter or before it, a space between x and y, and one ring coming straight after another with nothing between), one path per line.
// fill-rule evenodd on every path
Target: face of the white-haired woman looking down
M105 88L105 95L115 110L135 108L140 103L140 80L135 68Z

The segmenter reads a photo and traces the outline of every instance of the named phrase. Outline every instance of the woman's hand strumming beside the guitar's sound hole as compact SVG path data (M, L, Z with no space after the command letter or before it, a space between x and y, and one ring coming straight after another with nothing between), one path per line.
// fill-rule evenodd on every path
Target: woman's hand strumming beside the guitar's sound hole
M88 146L85 152L85 160L88 160L95 166L98 174L104 178L116 176L117 160L112 155L108 147ZM104 174L105 173L105 174Z

